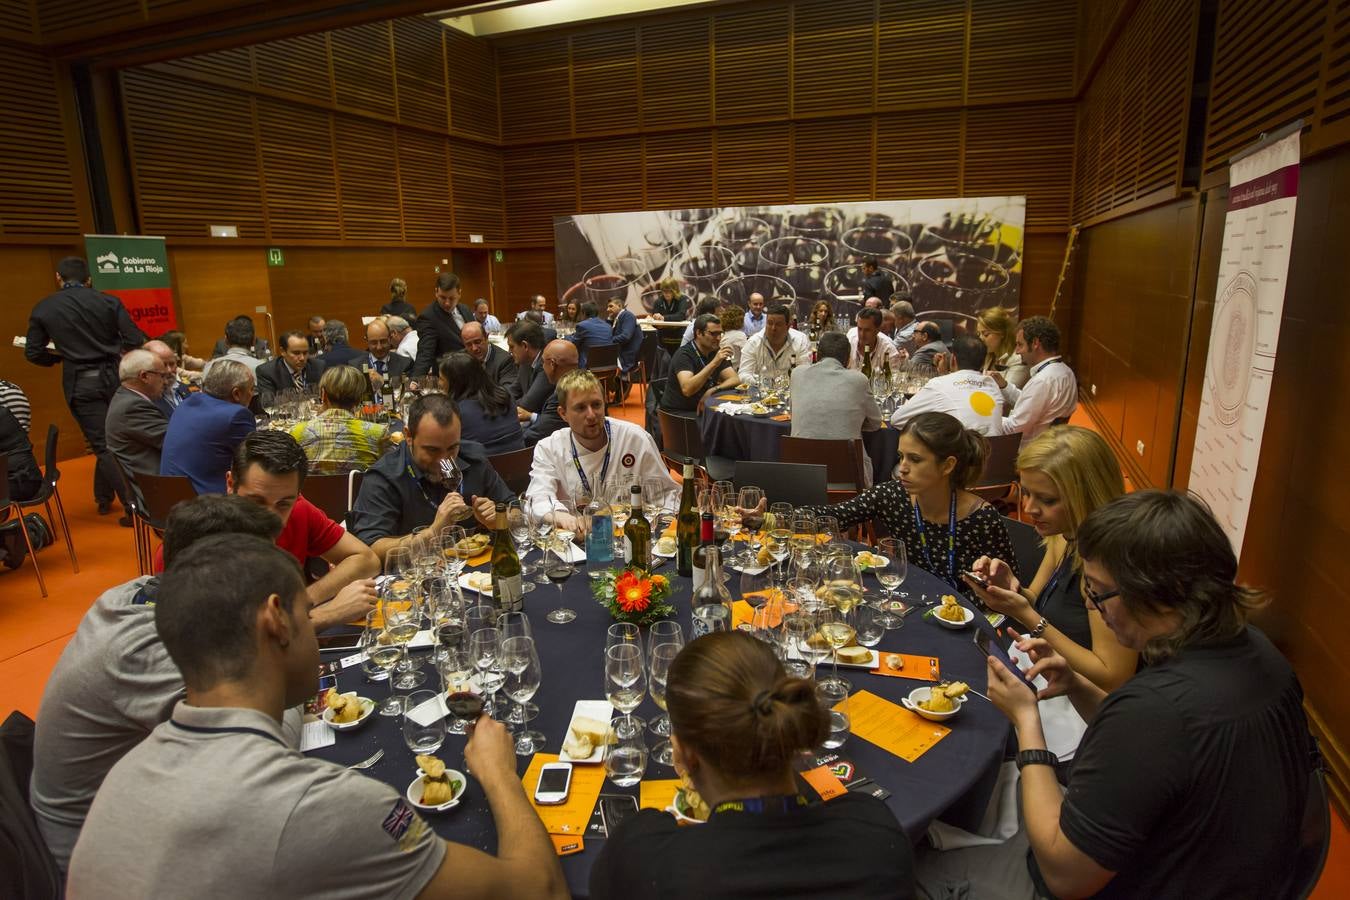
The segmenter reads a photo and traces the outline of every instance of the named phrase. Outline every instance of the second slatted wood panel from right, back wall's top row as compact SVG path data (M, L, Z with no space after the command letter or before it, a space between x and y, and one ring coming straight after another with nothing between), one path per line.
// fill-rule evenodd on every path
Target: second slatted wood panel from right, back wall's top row
M880 0L876 105L960 105L967 0Z

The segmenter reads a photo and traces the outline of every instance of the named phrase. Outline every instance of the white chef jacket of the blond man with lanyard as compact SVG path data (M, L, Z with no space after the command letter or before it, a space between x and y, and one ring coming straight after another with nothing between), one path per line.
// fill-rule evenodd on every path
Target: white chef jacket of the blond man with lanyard
M679 491L671 479L666 463L662 461L662 452L656 448L652 436L641 426L621 418L606 418L610 428L610 440L606 447L598 451L587 451L580 441L575 443L576 463L586 472L586 482L591 491L603 482L613 484L621 475L633 475L640 479L659 479L666 486L666 495L662 505L667 510L679 507ZM535 461L529 468L529 488L525 497L549 498L555 510L575 513L571 499L585 494L580 476L576 474L576 464L572 463L572 429L563 428L554 432L544 440L535 444ZM609 468L605 470L605 451L609 449Z

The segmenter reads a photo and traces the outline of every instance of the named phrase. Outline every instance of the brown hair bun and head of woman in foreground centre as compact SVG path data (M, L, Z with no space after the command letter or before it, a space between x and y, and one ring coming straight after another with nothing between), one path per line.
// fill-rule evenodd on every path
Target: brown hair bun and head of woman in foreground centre
M815 684L790 677L744 631L687 644L671 664L666 706L679 742L730 781L778 776L829 733Z

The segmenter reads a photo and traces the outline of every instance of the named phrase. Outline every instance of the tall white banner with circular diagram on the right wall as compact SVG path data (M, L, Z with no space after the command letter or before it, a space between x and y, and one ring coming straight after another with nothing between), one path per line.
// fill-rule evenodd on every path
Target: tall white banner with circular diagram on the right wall
M1189 487L1210 503L1241 557L1280 344L1299 200L1299 128L1235 159L1228 184Z

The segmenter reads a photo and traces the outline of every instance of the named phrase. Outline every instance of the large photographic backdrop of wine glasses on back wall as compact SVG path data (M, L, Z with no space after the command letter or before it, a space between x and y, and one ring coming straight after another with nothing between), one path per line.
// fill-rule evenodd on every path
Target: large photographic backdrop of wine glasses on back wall
M795 304L825 300L837 316L861 305L863 260L876 256L895 285L887 302L953 320L1003 305L1022 289L1026 197L884 200L829 205L721 206L558 216L558 296L621 297L645 312L675 278L698 302L745 305L752 293ZM937 316L934 316L937 317Z

